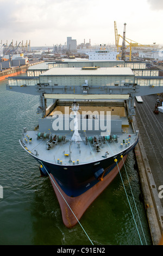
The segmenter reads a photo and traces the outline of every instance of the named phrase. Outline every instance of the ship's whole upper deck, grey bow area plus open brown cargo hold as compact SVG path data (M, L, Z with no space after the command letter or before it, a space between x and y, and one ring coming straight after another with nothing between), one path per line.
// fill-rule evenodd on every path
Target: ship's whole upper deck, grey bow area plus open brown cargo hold
M38 131L24 129L20 143L29 154L38 160L71 166L116 157L120 153L123 154L123 151L135 143L137 132L134 132L133 125L128 121L124 102L120 101L116 104L114 102L80 102L80 108L78 108L80 119L77 121L78 125L80 124L78 127L79 137L74 137L75 126L73 126L73 130L70 129L70 123L74 118L71 118L71 115L74 114L73 107L69 107L71 103L69 100L67 102L60 101L57 105L53 104L48 107L49 111L46 117L39 119ZM96 116L96 113L101 113L101 111L104 113L103 119ZM64 120L65 123L62 130L55 131L53 124L55 121L59 121L57 113L64 113L61 115L63 118L61 120ZM110 133L106 130L108 131L106 136L103 134L100 121L105 120L107 113L110 113L110 128L108 129ZM68 130L65 129L67 117ZM98 130L92 121L93 119L100 123ZM89 129L89 123L87 123L86 129L83 129L83 124L86 121L92 122L91 129Z

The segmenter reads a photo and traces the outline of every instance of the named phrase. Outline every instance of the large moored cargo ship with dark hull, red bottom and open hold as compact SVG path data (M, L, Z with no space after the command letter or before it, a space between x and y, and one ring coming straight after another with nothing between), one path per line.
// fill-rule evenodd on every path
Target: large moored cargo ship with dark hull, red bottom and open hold
M105 106L102 106L102 102L91 102L89 105L89 102L84 101L80 102L80 106L74 101L71 109L65 107L64 103L58 102L53 111L40 120L38 131L24 128L20 144L39 162L41 174L50 176L64 224L72 227L118 174L118 168L121 169L128 153L137 144L139 132L134 132L128 122L125 124L127 117L123 102L121 107L113 107L114 102L105 102ZM96 107L92 103L96 103ZM110 107L116 112L110 120L109 129L112 132L103 135L101 129L96 130L96 126L101 126L104 121L101 119L101 124L98 124L99 113L104 111L106 117ZM72 112L68 114L70 110ZM62 129L62 120L64 127L72 123L72 130L57 130L55 124L59 123ZM49 121L53 121L53 129L48 128ZM85 130L79 130L79 124Z

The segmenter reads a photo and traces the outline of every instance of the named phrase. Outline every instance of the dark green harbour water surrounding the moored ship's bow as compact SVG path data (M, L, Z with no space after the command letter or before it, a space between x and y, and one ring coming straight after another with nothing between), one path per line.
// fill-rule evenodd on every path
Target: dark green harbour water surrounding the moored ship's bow
M6 84L0 82L0 245L91 245L79 224L68 229L62 223L51 181L18 142L23 127L37 125L39 97L9 92ZM134 152L121 174L123 182L118 174L80 223L96 246L152 245Z

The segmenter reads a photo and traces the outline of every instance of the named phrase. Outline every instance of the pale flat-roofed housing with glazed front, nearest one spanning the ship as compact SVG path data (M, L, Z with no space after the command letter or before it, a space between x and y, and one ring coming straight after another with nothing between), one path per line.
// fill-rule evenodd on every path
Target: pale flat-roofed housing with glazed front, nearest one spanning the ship
M79 86L88 83L89 86L110 84L122 86L123 81L134 83L134 74L130 68L53 68L40 75L40 83L54 86Z

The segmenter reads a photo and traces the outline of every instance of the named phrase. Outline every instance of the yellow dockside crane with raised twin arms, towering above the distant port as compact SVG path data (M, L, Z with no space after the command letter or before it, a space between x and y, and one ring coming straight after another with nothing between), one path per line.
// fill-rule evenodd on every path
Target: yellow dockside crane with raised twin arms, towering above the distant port
M115 43L116 43L116 46L117 46L117 52L119 52L119 48L122 48L122 52L120 52L118 55L117 55L117 60L119 60L119 57L122 56L123 60L124 60L124 52L126 52L126 49L127 48L130 48L130 54L129 54L129 60L131 61L131 52L132 52L132 47L150 47L151 45L141 45L139 44L139 42L135 42L134 40L131 40L129 38L126 38L126 23L124 23L124 31L123 31L123 36L118 34L117 32L117 25L116 25L116 21L114 22L114 29L115 29ZM126 41L128 43L128 45L126 46L125 44L125 48L123 43L122 45L119 45L119 41L120 41L120 37L123 39L123 41ZM128 41L130 40L130 42ZM121 59L122 59L121 58Z

